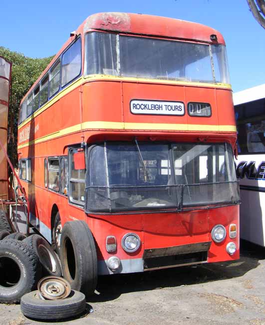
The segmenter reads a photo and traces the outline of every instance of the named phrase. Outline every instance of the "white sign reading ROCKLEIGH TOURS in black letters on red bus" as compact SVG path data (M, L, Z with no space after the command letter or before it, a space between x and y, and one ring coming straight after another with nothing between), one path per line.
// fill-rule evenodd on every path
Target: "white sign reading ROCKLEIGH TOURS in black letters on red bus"
M181 101L138 100L130 102L133 114L184 115L185 107Z

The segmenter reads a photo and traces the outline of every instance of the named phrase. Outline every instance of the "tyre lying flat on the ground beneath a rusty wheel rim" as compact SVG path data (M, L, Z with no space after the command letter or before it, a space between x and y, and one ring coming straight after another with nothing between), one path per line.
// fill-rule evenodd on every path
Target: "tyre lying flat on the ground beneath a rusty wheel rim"
M20 303L22 313L33 319L58 320L74 317L86 310L85 295L71 290L64 299L42 300L38 290L25 294Z

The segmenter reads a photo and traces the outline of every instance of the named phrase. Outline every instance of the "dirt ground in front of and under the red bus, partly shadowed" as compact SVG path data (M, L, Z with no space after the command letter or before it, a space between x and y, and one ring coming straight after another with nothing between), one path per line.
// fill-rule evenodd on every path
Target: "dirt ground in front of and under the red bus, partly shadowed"
M102 276L86 315L49 324L265 325L264 274L265 249L242 242L234 262ZM0 325L46 323L0 304Z

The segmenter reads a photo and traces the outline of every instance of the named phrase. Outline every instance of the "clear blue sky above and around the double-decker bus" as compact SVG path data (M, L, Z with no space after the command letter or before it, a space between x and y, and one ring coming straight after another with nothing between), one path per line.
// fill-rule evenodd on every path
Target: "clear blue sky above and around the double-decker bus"
M265 29L246 0L2 0L0 45L30 57L53 55L70 31L102 11L161 15L216 28L227 43L234 91L265 83Z

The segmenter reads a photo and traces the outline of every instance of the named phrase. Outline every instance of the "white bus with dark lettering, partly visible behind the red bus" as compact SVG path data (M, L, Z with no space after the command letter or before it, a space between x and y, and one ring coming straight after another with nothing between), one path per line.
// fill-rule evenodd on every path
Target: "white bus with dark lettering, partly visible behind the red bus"
M240 236L265 246L265 84L234 93Z

